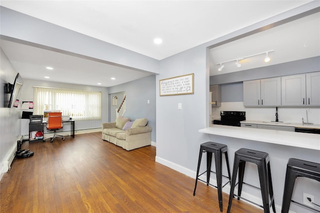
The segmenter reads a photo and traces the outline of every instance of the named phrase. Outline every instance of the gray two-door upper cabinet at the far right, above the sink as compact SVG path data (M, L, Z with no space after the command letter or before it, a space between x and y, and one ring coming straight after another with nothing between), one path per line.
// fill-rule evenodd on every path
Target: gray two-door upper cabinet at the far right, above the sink
M282 105L320 105L320 72L281 77Z

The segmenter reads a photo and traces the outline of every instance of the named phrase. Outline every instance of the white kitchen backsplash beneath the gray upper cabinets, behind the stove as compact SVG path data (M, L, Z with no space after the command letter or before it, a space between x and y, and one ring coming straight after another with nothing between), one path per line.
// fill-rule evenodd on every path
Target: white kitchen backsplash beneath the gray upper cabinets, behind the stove
M283 122L306 122L306 110L308 122L320 124L320 107L278 107L278 119ZM244 111L246 120L274 121L275 107L244 107L243 102L221 102L220 107L212 107L211 120L220 118L220 111Z

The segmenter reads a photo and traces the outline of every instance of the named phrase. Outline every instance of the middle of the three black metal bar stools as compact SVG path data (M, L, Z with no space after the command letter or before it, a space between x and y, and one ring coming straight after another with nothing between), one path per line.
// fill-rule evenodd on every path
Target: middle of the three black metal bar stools
M245 168L246 162L250 162L250 163L257 165L258 174L259 174L259 181L260 181L260 188L254 187L252 185L249 185L249 184L246 184L243 182L244 168ZM238 170L239 170L238 183L237 183L238 184L238 195L234 195L234 188L236 185L235 180L236 180L236 174L237 174ZM242 190L242 184L246 184L248 186L251 186L251 187L254 187L254 188L261 190L263 206L260 206L258 204L255 204L249 200L246 200L246 199L240 197L241 190ZM232 199L234 196L236 196L238 200L240 200L240 198L241 198L247 202L250 202L252 204L255 204L255 205L263 208L264 213L269 213L270 207L269 207L268 194L270 195L270 205L272 205L272 210L275 213L269 155L265 152L259 152L259 151L243 149L243 148L236 151L234 153L233 172L232 172L231 189L230 189L230 194L229 194L229 204L228 204L227 213L230 213Z

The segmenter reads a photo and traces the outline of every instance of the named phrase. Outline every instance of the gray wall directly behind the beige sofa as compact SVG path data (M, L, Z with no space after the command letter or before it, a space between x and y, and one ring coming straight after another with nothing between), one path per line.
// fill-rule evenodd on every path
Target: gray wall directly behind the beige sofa
M124 92L126 94L126 112L124 117L134 121L137 118L146 118L148 126L152 128L151 141L156 142L156 124L155 124L155 75L150 75L124 84L108 88L110 96ZM122 99L118 99L121 101ZM149 100L149 103L147 103ZM109 104L111 104L109 102ZM115 113L115 112L110 112ZM111 120L114 122L114 120Z

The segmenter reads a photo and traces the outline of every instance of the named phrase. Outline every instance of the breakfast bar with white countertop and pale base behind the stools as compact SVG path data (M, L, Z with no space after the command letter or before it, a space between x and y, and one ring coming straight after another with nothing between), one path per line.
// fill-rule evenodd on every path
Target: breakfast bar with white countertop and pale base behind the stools
M227 145L228 161L233 167L234 153L241 148L266 152L269 154L276 212L280 212L286 164L288 159L296 158L314 163L320 163L320 135L287 132L280 130L245 128L236 126L210 125L198 130L204 133L203 142L211 141ZM223 163L224 164L224 163ZM226 174L225 168L222 168ZM244 180L254 186L259 186L255 165L245 167ZM223 192L229 194L229 186ZM319 197L320 184L314 180L297 178L292 200L303 203L303 193ZM262 204L259 190L243 188L242 195L254 203ZM318 203L318 200L316 200ZM293 213L311 213L294 203L290 206Z

